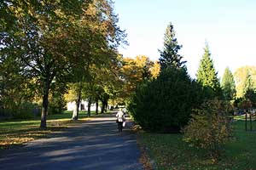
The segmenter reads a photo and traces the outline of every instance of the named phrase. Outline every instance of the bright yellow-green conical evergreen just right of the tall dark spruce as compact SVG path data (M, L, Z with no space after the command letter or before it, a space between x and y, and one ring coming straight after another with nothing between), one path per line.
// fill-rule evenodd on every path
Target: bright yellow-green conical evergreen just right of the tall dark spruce
M214 97L221 96L221 88L218 80L218 72L215 71L213 61L211 59L211 53L209 46L206 42L206 47L204 48L205 53L200 61L199 69L197 71L196 77L197 82L205 89L206 98L212 99Z

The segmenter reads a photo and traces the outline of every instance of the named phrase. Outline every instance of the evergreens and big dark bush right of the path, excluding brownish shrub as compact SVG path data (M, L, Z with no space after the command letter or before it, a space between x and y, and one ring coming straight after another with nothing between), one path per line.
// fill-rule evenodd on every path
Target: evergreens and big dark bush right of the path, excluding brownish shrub
M233 109L241 108L248 100L251 106L255 104L255 67L241 67L235 72L235 77L227 67L220 81L206 42L196 79L192 79L186 61L178 53L181 48L170 23L164 35L163 49L160 50L159 76L138 84L129 104L136 122L144 129L180 132L195 109L214 99L227 101ZM217 105L218 102L212 103Z

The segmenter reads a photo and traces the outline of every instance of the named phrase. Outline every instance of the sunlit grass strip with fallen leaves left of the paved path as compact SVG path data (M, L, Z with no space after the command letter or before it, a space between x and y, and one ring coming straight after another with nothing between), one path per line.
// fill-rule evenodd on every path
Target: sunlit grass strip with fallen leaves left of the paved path
M96 116L94 111L91 111L91 116ZM86 122L90 119L87 117L85 111L79 111L79 121L72 121L71 117L72 111L65 111L64 114L49 115L47 117L46 129L39 127L41 122L40 117L1 121L0 150L34 139L44 138L49 133L63 130L76 123Z

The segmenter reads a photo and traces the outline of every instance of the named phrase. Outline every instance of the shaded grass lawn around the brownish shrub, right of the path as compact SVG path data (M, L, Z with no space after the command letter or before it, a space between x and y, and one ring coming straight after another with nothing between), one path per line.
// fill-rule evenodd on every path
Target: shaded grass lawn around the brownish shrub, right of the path
M239 117L241 119L241 116ZM245 122L233 122L234 139L224 145L221 161L212 163L204 150L196 150L183 142L183 134L139 132L138 141L156 169L256 169L256 122L253 131L245 131Z

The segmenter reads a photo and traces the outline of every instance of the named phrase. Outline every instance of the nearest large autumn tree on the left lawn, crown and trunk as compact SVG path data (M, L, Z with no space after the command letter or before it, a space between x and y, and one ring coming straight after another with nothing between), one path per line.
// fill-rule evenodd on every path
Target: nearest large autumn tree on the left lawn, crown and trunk
M98 10L86 13L95 5ZM23 65L23 73L40 82L40 127L46 127L52 81L66 82L73 68L80 61L90 61L90 56L104 60L98 60L102 53L96 52L116 52L125 33L117 26L118 19L108 0L1 1L0 6L1 52L15 56Z

